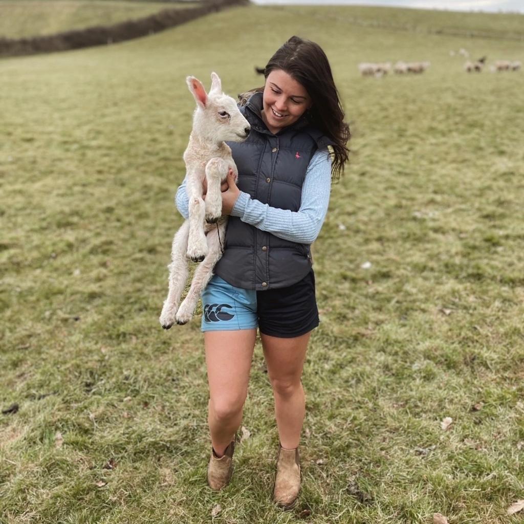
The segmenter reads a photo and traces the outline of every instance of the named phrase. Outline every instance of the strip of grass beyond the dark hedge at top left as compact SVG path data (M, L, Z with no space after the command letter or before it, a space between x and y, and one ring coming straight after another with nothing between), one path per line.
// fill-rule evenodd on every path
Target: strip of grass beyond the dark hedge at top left
M0 37L51 35L117 24L171 7L190 7L190 4L124 0L0 0Z

